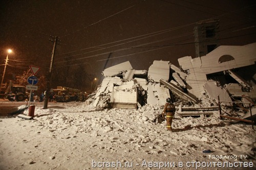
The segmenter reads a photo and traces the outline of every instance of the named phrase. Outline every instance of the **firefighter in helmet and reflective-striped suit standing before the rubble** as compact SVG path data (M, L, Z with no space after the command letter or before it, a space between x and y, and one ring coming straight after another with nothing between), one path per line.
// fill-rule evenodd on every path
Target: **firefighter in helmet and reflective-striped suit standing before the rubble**
M172 122L175 114L175 106L170 102L170 98L166 99L164 109L162 112L162 117L166 114L166 128L169 131L172 131Z

